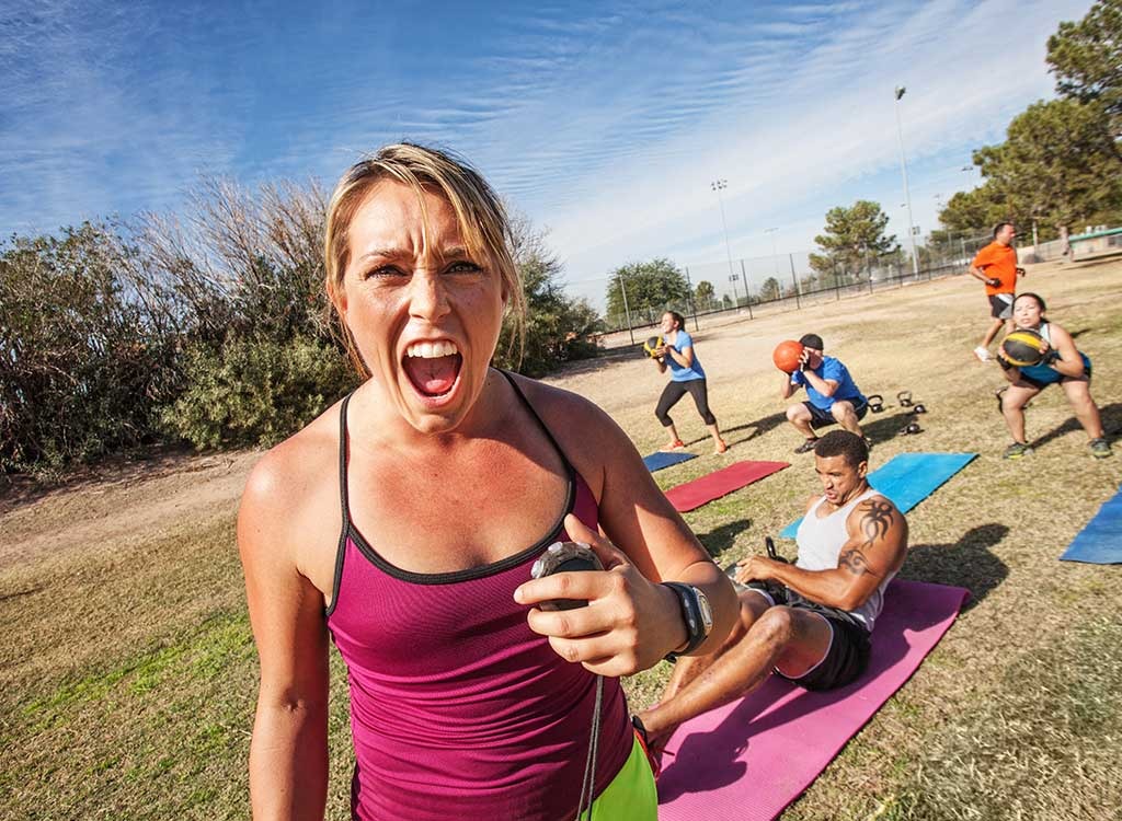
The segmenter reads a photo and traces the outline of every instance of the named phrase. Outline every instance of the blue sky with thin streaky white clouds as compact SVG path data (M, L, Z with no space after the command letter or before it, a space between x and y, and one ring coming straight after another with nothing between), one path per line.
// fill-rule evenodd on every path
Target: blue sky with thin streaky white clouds
M686 10L683 7L689 8ZM825 212L905 234L971 151L1052 94L1087 0L171 3L0 11L0 236L175 211L200 174L330 187L401 138L452 148L550 230L576 293L614 267L808 250Z

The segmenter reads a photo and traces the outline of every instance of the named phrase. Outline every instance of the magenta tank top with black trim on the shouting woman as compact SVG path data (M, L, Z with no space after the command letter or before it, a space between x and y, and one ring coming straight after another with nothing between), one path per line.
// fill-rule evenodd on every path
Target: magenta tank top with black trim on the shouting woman
M545 547L568 538L563 515L541 541L500 562L441 574L401 570L350 520L347 400L340 426L343 531L327 617L350 681L352 817L576 818L596 677L532 633L528 608L513 598ZM596 499L558 453L569 472L565 513L595 528ZM595 795L623 768L633 744L616 679L605 680L601 721Z

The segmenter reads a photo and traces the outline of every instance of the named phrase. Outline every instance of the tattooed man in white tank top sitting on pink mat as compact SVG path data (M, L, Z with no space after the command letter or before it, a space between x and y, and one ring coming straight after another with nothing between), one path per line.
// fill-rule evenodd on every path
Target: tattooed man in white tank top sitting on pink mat
M908 522L868 486L861 436L822 436L815 470L822 496L799 525L795 563L739 562L733 631L716 653L680 658L662 701L636 717L655 757L683 721L739 699L772 671L807 690L828 690L865 670L884 588L908 551Z

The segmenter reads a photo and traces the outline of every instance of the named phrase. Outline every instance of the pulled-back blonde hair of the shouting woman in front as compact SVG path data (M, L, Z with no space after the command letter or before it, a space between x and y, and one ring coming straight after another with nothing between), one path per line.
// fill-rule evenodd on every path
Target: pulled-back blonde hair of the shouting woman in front
M364 378L370 375L339 312L339 298L343 274L350 262L351 220L370 190L386 179L407 185L416 193L425 223L429 221L424 205L426 191L442 196L452 206L468 252L488 260L498 271L507 312L514 321L511 343L512 347L521 345L525 334L526 301L518 268L511 256L511 223L502 201L465 160L435 148L399 142L385 146L352 165L339 179L328 204L323 237L324 286L339 320L347 353L358 372Z

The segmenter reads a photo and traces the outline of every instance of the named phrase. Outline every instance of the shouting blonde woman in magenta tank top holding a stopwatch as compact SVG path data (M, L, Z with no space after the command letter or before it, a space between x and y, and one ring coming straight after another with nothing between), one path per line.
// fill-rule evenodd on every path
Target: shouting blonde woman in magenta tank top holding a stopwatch
M490 367L523 310L507 238L433 149L383 148L334 191L327 288L365 381L260 460L238 522L256 818L323 815L329 640L355 818L655 818L618 676L715 649L735 594L606 414ZM532 579L568 539L605 570Z

